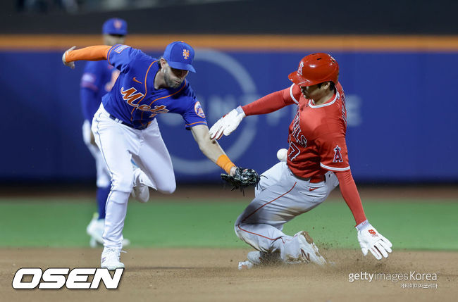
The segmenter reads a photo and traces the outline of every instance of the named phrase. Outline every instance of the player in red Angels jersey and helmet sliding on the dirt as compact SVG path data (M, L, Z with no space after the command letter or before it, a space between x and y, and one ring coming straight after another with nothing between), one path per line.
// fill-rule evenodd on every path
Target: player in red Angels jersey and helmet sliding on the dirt
M357 238L366 256L388 257L392 244L369 223L350 171L345 133L345 94L338 82L339 65L329 54L311 54L289 75L291 87L237 107L211 127L212 139L229 135L247 115L271 113L297 105L289 127L287 161L261 175L255 198L235 222L237 237L257 251L239 268L271 263L316 263L326 260L307 232L282 232L285 222L322 203L340 184L356 221ZM264 175L264 177L263 177Z

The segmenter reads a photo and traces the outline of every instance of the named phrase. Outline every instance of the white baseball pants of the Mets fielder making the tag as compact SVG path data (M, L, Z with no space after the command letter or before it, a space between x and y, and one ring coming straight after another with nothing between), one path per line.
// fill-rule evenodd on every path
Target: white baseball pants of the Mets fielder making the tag
M128 199L137 181L135 177L140 176L140 182L148 187L171 194L176 188L172 161L156 120L146 129L136 130L119 120L112 120L101 104L92 120L92 132L112 183L106 201L104 246L120 249ZM144 173L134 173L131 159Z

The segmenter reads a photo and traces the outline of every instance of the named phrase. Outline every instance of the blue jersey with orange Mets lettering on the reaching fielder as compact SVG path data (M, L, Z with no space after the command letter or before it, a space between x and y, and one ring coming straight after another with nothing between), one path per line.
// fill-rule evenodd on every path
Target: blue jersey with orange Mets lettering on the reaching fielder
M109 49L108 62L120 70L118 80L102 98L104 108L114 118L142 129L158 113L178 113L185 120L185 127L206 125L202 106L184 80L178 88L154 89L154 77L160 69L160 61L127 45L115 45Z

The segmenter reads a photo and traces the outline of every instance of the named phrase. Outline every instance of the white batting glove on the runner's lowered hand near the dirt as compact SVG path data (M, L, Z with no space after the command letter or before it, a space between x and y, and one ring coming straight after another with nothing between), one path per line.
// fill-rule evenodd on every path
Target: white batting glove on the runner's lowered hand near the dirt
M380 260L383 257L388 258L388 253L391 253L391 242L377 232L369 221L365 220L357 225L358 241L363 251L364 256L367 251L371 251L372 255Z

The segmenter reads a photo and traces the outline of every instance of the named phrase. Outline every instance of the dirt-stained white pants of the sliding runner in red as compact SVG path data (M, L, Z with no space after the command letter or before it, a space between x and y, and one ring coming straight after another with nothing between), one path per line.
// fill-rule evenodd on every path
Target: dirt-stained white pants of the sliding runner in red
M258 251L279 252L283 260L300 255L298 237L282 232L283 225L322 203L339 181L333 172L311 183L292 174L285 162L262 173L255 198L235 222L235 234Z

